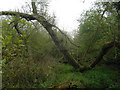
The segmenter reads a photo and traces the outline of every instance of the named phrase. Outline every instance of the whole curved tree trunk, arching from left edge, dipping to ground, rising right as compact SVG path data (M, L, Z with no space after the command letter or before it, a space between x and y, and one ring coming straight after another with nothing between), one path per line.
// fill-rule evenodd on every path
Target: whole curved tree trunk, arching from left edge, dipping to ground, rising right
M35 13L33 15L30 15L30 14L20 13L20 12L2 11L2 12L0 12L0 15L19 16L21 18L25 18L26 20L37 20L47 30L47 32L51 36L52 40L54 41L54 43L57 46L57 48L59 49L59 51L64 55L66 60L68 60L68 63L70 65L72 65L73 67L78 68L80 71L85 71L85 70L88 70L90 68L95 67L101 61L103 56L109 51L109 49L112 48L114 45L116 47L120 48L120 43L118 43L118 42L110 42L108 44L105 44L102 47L96 60L90 65L90 67L86 68L83 65L81 65L80 63L78 63L70 55L68 50L64 47L63 43L60 42L58 36L56 35L54 30L52 29L52 27L54 27L54 25L50 24L43 16L36 14L35 10L34 10L34 12Z

